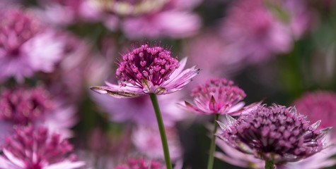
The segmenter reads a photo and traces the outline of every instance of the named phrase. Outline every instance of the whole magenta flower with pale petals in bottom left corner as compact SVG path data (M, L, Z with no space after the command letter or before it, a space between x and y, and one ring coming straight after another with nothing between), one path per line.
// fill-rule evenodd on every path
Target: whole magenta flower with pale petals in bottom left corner
M13 135L6 138L0 168L75 169L85 165L76 161L72 150L69 142L45 127L16 127Z

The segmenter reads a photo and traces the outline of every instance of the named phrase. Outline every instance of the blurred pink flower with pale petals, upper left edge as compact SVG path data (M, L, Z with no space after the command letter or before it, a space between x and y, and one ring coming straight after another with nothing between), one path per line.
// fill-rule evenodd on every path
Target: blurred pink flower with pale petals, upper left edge
M21 8L1 13L0 80L15 77L19 82L36 71L50 73L62 58L64 42Z

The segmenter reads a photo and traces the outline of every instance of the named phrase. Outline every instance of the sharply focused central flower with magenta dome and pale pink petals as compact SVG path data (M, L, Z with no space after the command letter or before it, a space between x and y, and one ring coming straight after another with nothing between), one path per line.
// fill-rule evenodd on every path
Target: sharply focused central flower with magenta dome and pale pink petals
M179 63L161 46L144 44L122 56L116 72L120 85L106 82L107 86L91 89L117 98L173 93L183 89L199 73L195 66L183 70L186 62L184 58Z

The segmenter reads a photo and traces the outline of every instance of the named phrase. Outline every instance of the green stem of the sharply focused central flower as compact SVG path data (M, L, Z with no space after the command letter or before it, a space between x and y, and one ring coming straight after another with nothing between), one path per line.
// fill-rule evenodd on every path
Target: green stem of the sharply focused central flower
M165 127L163 125L160 107L158 106L158 99L156 98L156 94L149 94L151 96L151 103L153 104L156 120L158 121L158 130L160 130L161 142L163 146L163 154L165 155L166 167L167 169L172 169L172 165L170 162L170 155L167 143L167 137L165 132Z

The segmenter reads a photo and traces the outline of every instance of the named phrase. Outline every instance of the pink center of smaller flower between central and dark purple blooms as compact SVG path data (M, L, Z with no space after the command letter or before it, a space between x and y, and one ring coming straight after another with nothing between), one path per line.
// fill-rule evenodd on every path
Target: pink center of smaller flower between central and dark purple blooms
M192 97L199 102L209 103L211 111L218 113L224 107L231 107L245 98L245 92L230 80L208 80L192 91ZM214 100L213 100L214 99Z

